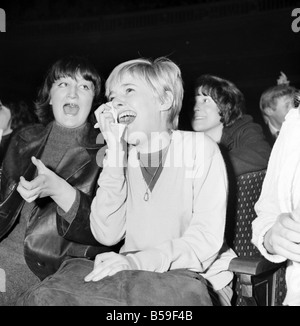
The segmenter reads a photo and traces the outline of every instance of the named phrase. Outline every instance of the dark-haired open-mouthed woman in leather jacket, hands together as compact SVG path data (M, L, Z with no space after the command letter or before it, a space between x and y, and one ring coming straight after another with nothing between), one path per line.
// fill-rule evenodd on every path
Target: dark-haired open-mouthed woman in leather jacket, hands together
M35 103L40 123L21 128L11 139L0 188L0 268L6 274L1 306L14 305L65 259L92 258L107 249L89 226L101 171L96 155L102 145L93 126L100 92L101 78L86 58L58 60ZM79 225L73 223L76 214Z

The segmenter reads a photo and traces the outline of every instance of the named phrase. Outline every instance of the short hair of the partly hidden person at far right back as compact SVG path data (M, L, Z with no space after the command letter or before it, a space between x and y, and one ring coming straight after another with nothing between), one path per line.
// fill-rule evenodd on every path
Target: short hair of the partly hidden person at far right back
M275 110L276 102L279 98L287 96L292 102L295 99L297 89L288 84L280 84L267 88L261 95L259 107L262 113L266 108Z

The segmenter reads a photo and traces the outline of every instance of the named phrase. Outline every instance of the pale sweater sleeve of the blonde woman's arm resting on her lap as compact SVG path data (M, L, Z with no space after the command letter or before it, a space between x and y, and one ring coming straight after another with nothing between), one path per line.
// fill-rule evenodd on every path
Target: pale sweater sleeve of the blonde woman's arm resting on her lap
M205 272L216 259L224 240L227 175L215 143L204 142L197 151L193 173L192 217L183 235L154 248L128 253L140 270L165 272L188 268Z

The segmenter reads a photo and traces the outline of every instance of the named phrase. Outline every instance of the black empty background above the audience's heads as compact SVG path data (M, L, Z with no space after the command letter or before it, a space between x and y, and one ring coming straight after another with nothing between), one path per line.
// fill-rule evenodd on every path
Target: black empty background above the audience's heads
M122 61L168 56L182 69L180 127L189 129L193 84L212 73L233 81L261 123L259 97L283 71L300 86L296 0L1 0L0 99L32 103L49 66L88 56L105 79Z

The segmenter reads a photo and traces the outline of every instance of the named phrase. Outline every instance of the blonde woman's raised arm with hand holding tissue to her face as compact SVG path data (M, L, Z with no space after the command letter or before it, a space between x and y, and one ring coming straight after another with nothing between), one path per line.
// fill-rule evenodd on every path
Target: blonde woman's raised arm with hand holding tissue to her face
M114 123L110 110L111 107L104 104L95 112L108 148L90 214L92 233L104 245L116 244L125 235L127 198L126 153L119 130L122 126Z

